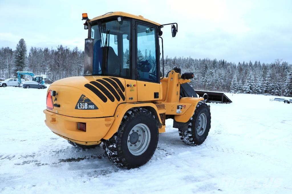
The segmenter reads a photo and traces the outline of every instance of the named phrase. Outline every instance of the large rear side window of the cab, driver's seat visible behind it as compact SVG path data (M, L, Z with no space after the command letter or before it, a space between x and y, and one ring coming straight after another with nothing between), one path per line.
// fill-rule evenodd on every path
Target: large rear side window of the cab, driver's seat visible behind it
M93 75L129 78L130 27L124 19L99 22L91 27L93 42Z

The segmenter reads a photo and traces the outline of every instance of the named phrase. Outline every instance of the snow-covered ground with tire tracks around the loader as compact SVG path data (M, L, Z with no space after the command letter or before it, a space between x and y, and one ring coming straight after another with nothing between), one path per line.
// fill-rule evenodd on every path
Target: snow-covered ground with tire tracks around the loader
M144 166L119 169L45 125L46 89L0 88L0 193L292 193L292 104L227 94L197 147L167 120Z

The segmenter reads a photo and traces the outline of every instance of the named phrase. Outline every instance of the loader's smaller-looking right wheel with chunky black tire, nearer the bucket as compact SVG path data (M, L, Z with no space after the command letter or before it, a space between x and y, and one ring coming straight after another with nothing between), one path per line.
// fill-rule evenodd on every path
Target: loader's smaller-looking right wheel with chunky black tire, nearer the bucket
M210 105L199 102L194 115L190 118L188 129L178 129L180 139L189 145L201 145L207 138L211 128Z

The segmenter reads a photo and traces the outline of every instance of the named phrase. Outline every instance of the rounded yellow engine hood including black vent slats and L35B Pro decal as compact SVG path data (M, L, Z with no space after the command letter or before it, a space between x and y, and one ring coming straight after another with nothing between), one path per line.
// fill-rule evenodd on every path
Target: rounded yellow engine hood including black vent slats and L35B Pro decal
M53 82L50 90L57 95L52 97L53 110L47 110L70 117L110 117L126 102L125 79L117 77L68 77Z

